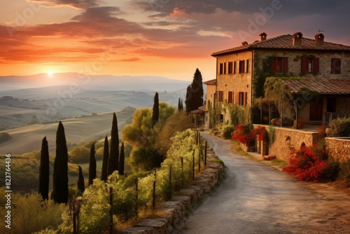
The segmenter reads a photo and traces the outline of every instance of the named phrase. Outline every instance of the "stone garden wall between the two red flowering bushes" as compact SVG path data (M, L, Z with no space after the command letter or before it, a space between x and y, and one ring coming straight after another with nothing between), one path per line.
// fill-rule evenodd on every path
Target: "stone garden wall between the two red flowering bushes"
M267 128L269 130L269 128ZM274 142L269 147L269 156L276 156L283 160L290 158L290 151L300 149L304 143L305 146L312 146L318 137L317 132L308 132L290 128L275 128Z

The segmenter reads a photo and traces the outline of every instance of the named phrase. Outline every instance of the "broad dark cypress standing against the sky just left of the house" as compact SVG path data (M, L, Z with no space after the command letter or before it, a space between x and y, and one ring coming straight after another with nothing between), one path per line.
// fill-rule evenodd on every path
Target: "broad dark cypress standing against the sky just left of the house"
M196 69L193 75L193 81L188 86L186 92L186 112L193 111L203 105L203 81L202 74L199 69Z

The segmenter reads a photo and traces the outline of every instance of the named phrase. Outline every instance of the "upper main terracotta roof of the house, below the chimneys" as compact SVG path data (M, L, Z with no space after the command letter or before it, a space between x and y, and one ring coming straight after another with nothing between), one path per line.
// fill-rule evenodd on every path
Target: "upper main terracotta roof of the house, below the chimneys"
M239 50L247 49L290 49L290 50L347 50L350 52L350 46L344 46L342 44L324 42L322 47L316 47L314 39L302 38L301 46L293 46L293 36L290 34L276 36L264 41L254 41L246 46L238 46L230 48L228 50L221 50L216 53L212 53L211 56L221 55Z

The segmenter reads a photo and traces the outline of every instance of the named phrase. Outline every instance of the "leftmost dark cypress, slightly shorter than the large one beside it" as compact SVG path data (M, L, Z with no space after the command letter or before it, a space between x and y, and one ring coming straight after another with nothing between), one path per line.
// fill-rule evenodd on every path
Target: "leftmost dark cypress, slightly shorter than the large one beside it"
M50 160L48 155L48 141L46 137L41 142L40 169L39 169L39 190L43 200L48 200L48 186L50 182Z

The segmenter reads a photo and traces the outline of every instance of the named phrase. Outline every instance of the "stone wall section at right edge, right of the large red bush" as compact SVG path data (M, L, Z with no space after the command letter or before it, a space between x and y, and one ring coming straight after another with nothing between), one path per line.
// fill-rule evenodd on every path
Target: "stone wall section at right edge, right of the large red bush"
M350 137L339 139L335 137L325 138L325 151L338 163L346 163L350 160Z

